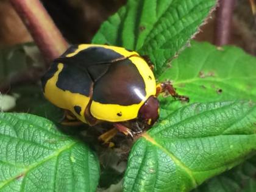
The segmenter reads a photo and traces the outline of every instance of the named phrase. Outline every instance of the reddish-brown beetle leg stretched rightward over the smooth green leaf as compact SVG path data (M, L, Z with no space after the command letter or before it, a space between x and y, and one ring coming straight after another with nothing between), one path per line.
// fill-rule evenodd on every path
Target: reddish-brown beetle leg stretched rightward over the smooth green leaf
M160 84L157 84L157 93L155 96L158 96L160 93L163 93L165 91L168 91L169 94L175 99L179 99L180 101L189 102L190 98L187 96L179 95L176 93L175 88L172 87L171 82L163 82Z

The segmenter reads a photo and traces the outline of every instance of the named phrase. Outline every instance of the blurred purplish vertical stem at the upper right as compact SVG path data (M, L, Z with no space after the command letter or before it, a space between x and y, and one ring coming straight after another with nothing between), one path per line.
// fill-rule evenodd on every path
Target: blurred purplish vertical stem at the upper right
M235 0L219 0L215 26L216 46L222 46L229 43L234 5Z

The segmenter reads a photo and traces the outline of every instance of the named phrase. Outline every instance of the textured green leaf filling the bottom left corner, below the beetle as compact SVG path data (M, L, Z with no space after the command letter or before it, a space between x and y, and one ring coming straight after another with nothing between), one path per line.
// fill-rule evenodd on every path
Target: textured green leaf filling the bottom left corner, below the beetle
M96 191L96 156L47 119L0 113L0 146L0 191Z

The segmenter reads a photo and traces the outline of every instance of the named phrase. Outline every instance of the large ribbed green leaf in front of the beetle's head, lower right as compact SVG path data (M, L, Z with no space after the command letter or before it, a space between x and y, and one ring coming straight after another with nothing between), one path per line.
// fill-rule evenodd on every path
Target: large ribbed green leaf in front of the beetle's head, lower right
M189 191L256 151L256 107L213 102L180 108L130 152L124 191Z

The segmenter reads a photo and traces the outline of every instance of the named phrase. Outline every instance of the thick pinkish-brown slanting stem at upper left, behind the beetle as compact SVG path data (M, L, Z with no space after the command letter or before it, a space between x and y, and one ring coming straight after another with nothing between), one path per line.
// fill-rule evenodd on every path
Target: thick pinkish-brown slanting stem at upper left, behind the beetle
M39 0L10 0L10 2L49 65L68 48L67 41Z

